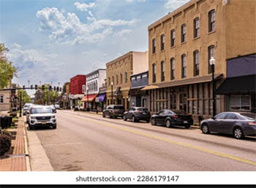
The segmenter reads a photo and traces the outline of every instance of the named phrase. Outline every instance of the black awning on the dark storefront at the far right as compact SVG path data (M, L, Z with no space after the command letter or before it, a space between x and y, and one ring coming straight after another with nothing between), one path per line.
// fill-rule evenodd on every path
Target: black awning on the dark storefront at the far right
M243 77L231 77L225 79L217 89L217 94L239 94L239 93L255 93L256 91L256 75Z

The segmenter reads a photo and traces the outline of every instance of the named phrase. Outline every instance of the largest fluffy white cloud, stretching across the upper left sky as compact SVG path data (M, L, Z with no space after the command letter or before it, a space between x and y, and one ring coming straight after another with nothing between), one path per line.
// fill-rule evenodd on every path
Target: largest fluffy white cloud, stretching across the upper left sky
M51 40L70 44L99 42L113 31L124 29L120 26L133 27L138 23L137 19L97 20L92 16L87 17L87 23L81 23L75 13L68 12L65 17L55 7L39 10L36 15L40 20L40 30L47 31Z

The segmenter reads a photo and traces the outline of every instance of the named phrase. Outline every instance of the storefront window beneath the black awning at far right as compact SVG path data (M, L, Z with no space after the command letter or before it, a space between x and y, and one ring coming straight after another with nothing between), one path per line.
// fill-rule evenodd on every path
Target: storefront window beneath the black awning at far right
M250 95L231 95L230 96L230 110L251 110Z

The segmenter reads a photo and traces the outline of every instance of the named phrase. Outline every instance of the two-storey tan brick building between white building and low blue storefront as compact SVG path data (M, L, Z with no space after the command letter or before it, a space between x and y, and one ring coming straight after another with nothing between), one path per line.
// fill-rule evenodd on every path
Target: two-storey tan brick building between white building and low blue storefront
M106 63L107 105L122 104L129 109L130 75L148 70L148 52L128 52ZM113 102L111 82L113 83Z

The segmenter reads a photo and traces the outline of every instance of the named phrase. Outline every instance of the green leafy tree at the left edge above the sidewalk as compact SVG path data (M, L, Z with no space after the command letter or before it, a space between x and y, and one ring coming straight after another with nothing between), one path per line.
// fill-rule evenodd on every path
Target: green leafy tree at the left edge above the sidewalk
M17 68L7 59L8 48L0 44L0 89L8 87L10 79L17 77Z

